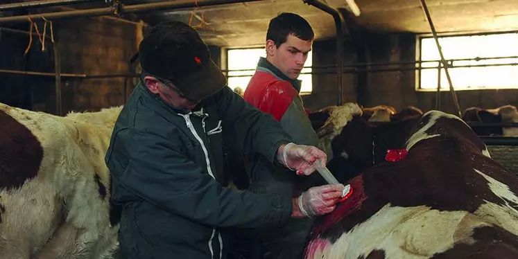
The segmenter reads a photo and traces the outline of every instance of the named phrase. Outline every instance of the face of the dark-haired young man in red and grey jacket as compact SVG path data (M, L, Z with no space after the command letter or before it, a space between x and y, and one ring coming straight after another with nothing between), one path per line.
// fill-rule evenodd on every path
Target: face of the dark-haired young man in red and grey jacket
M273 40L266 41L266 53L268 60L277 67L284 75L291 79L297 79L304 63L311 51L313 40L305 41L293 35L286 37L286 42L279 48L275 46Z

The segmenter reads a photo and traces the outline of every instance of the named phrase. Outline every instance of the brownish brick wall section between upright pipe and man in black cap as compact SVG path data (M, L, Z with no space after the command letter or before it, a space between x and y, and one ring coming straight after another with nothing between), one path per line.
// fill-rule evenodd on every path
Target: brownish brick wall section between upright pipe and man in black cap
M74 19L56 26L62 73L134 73L129 60L137 51L141 26L101 18ZM121 105L133 87L125 78L62 80L62 110L95 110Z

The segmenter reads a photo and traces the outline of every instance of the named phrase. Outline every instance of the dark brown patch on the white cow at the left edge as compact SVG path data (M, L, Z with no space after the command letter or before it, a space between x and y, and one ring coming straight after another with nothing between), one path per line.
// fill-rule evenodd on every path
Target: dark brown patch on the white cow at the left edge
M0 111L0 190L19 188L36 177L43 158L40 141L27 127Z

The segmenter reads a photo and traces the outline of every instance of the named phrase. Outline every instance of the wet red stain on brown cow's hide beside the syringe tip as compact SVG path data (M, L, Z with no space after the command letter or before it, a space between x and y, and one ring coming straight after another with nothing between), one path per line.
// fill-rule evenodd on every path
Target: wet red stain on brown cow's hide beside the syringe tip
M326 231L330 226L334 226L336 222L339 222L344 217L347 217L347 215L351 215L361 208L361 204L367 199L365 190L363 189L363 176L354 177L347 184L351 185L351 189L353 190L352 195L345 199L345 201L336 204L336 209L328 215L325 215L324 219L315 225L313 235L318 235Z

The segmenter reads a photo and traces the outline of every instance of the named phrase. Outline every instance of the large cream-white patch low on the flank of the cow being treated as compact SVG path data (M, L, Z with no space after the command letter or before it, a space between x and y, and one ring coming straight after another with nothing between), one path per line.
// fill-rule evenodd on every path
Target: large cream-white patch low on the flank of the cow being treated
M343 233L334 244L319 251L317 256L318 259L365 258L373 250L383 250L387 259L429 258L451 249L454 244L472 244L472 229L487 225L466 211L386 204L368 220Z

